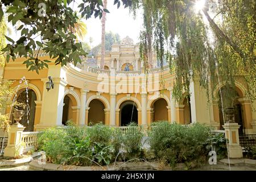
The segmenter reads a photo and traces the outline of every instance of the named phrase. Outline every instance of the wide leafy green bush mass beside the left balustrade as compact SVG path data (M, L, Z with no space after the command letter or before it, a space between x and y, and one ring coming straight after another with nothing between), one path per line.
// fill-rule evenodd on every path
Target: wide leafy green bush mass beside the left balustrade
M109 164L114 159L112 130L98 124L85 129L68 122L67 127L51 128L38 137L38 148L49 162L90 166Z

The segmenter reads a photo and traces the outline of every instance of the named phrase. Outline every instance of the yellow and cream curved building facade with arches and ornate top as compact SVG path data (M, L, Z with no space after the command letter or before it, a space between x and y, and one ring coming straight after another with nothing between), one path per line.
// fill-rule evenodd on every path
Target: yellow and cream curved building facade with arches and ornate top
M208 102L205 90L200 88L199 79L191 82L191 97L176 102L172 98L175 75L168 66L157 67L154 57L153 68L146 75L139 59L139 46L130 38L120 44L113 44L112 51L106 52L105 68L98 69L100 53L95 56L94 67L84 61L61 67L55 65L45 53L40 59L49 59L48 69L39 75L28 72L22 64L24 57L10 61L1 69L3 80L14 80L15 93L22 99L26 84L19 84L22 77L28 81L30 117L27 131L38 131L51 126L65 125L68 120L84 126L102 122L109 126L126 126L129 122L149 126L152 122L166 120L182 125L204 123L215 129L223 125L223 117L218 100ZM47 91L48 76L54 87ZM217 96L222 83L215 85ZM246 83L236 81L239 98L236 101L238 114L236 122L241 125L241 133L256 134L256 103L245 97ZM10 96L9 101L13 101ZM6 108L5 113L11 113Z

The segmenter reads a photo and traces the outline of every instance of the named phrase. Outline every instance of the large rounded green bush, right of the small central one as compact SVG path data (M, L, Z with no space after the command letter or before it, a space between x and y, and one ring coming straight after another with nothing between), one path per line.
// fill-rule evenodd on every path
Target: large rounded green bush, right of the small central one
M209 129L199 123L178 125L157 122L148 131L149 144L157 159L175 166L208 155Z

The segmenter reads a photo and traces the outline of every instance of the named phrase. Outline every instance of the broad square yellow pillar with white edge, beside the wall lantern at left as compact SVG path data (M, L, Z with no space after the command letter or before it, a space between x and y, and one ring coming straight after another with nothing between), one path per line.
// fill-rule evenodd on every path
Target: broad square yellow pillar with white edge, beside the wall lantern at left
M67 82L60 77L53 77L52 80L54 88L47 92L45 82L48 78L42 79L44 82L43 104L37 129L62 125L64 91Z

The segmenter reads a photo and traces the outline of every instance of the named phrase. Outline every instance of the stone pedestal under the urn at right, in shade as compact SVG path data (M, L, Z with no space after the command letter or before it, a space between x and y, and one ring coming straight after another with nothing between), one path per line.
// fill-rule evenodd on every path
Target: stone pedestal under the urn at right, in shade
M239 143L238 129L240 125L238 123L225 123L223 125L225 129L225 136L228 139L228 152L230 159L240 159L243 157L242 147Z

